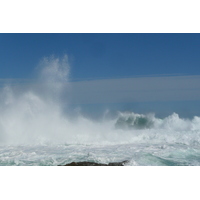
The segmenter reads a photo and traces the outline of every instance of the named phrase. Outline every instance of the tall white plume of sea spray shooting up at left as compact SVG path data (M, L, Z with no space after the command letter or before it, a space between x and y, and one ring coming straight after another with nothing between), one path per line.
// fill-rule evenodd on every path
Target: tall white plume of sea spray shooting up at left
M20 90L19 86L6 85L2 88L2 144L56 141L58 132L65 126L61 95L69 74L67 56L44 58L37 69L39 74L34 83L22 86Z

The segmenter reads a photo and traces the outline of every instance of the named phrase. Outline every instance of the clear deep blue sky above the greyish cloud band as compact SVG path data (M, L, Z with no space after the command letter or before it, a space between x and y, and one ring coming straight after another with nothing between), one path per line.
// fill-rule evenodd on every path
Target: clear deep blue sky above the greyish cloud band
M73 79L200 74L200 34L0 34L0 78L68 54Z

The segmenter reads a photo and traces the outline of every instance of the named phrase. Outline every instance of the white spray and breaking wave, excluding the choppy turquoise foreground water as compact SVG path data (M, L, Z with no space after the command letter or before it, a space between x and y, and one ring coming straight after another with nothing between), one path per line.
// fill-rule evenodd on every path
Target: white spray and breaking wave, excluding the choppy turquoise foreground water
M68 57L44 58L37 81L20 90L6 85L0 96L0 144L124 144L200 143L200 118L181 119L174 113L155 115L120 113L114 119L94 121L63 112L67 100ZM73 89L73 88L72 88Z

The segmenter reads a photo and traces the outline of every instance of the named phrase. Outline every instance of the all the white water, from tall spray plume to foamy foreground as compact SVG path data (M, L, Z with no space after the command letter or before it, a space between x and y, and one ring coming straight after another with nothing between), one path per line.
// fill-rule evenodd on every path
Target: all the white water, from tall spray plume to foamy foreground
M73 161L128 165L199 165L200 118L121 113L91 120L64 112L67 56L45 58L37 81L5 85L0 95L0 165L59 165ZM68 105L69 106L69 105Z

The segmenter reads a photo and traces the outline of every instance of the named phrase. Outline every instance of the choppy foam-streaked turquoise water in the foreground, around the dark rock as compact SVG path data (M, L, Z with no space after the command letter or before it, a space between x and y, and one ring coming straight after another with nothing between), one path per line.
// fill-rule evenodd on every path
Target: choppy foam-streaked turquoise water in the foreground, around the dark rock
M1 166L57 166L70 162L121 162L127 166L200 165L200 148L183 144L1 146Z

